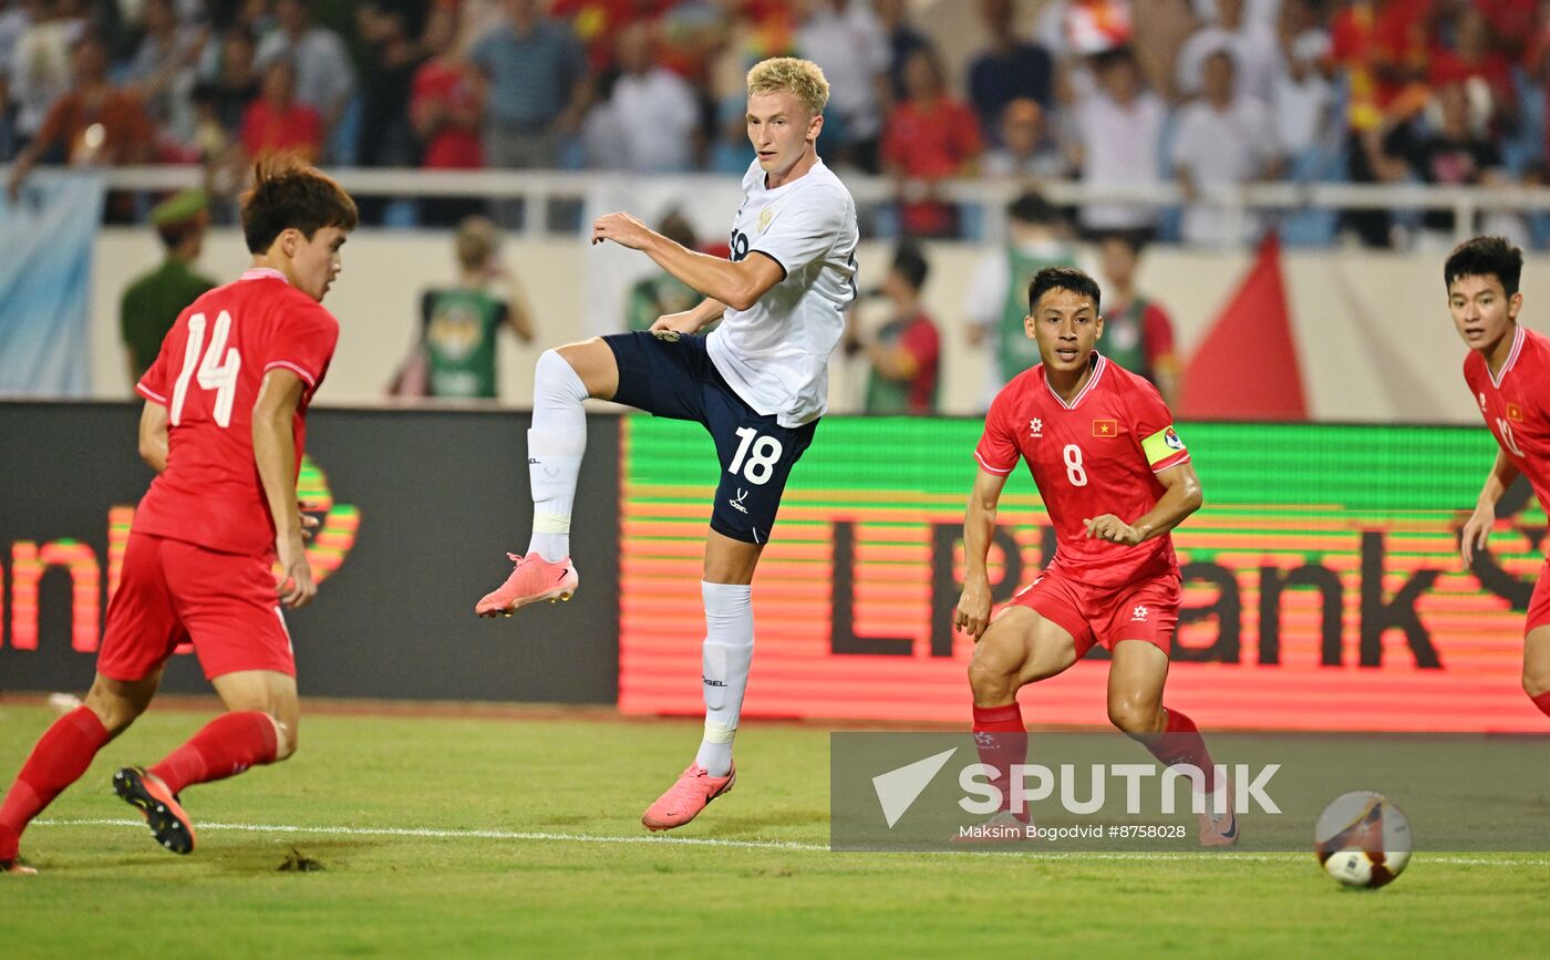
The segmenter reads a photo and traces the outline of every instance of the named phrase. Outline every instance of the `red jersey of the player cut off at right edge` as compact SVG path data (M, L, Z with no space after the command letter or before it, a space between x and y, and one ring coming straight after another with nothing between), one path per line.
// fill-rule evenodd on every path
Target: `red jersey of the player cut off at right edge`
M1496 444L1550 512L1550 337L1517 327L1496 377L1485 357L1469 351L1463 378Z

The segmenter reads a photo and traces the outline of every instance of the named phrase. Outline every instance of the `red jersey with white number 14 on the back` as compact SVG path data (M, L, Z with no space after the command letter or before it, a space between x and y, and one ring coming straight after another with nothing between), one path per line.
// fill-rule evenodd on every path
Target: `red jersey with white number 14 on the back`
M274 547L274 521L253 459L253 405L264 374L305 382L296 408L296 465L307 405L329 371L339 324L276 270L250 270L189 306L136 391L167 408L167 468L150 482L135 529L228 554Z

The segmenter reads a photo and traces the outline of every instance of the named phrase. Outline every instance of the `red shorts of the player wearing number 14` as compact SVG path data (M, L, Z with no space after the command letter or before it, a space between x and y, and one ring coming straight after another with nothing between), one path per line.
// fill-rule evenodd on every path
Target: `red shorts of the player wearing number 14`
M267 558L132 532L118 591L107 605L98 673L141 679L189 639L208 679L237 670L296 676Z

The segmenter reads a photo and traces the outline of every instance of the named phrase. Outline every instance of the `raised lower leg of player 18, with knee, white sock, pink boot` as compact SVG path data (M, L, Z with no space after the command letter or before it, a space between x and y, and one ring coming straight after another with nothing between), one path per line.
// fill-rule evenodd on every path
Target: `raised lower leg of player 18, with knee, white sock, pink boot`
M527 475L533 532L527 554L508 554L512 575L474 606L480 617L510 616L539 600L569 600L580 585L570 563L570 510L586 453L589 397L611 400L618 363L601 338L544 351L533 371L533 426L527 431Z

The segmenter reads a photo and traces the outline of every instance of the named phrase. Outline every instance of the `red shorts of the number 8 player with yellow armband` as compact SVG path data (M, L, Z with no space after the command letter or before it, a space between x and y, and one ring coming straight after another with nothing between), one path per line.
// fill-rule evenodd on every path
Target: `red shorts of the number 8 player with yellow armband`
M1096 588L1048 568L1008 600L1026 606L1076 637L1076 658L1093 644L1113 650L1119 641L1145 641L1173 650L1173 628L1183 585L1176 572L1149 577L1124 586Z

